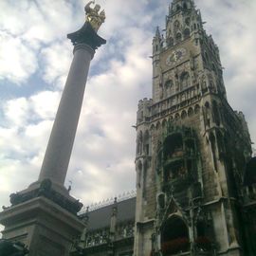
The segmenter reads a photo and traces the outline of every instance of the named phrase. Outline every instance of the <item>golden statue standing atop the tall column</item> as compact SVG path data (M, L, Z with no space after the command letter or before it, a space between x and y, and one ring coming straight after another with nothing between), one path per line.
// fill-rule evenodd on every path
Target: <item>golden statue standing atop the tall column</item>
M105 11L101 10L99 13L101 6L95 5L94 9L92 9L90 6L91 4L94 4L95 1L90 1L84 8L85 14L86 14L86 21L91 24L91 26L94 28L94 30L97 32L99 28L101 27L101 24L105 21Z

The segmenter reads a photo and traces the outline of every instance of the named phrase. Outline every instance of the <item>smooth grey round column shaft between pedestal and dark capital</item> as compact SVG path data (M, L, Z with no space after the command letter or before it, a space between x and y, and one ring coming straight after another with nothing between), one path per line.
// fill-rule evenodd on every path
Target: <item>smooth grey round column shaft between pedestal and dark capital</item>
M73 62L48 141L39 181L49 178L53 183L64 185L93 55L91 46L79 44L74 47Z

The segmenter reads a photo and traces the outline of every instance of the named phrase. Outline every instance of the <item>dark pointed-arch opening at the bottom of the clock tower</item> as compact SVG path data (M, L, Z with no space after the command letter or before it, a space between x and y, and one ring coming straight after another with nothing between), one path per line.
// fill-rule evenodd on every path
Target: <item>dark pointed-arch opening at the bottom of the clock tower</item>
M161 250L164 256L190 250L189 230L178 216L166 221L161 231Z

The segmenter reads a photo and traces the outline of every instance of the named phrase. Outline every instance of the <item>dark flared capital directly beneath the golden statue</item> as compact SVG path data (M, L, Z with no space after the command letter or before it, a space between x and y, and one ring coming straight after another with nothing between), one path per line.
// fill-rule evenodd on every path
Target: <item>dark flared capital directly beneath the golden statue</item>
M78 31L67 34L67 38L74 46L87 45L94 50L106 44L106 40L97 34L89 22L85 22Z

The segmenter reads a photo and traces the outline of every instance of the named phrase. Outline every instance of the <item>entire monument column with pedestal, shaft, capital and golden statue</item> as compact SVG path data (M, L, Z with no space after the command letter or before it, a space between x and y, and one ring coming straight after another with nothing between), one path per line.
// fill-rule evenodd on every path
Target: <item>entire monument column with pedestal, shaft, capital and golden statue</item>
M19 241L29 256L68 256L74 241L80 238L84 224L77 213L82 203L64 188L64 179L76 135L90 62L97 47L106 41L96 28L104 12L96 5L86 6L87 21L67 37L74 45L74 57L46 148L37 182L27 190L10 195L11 206L0 212L5 226L3 238Z

